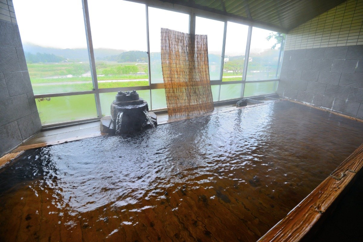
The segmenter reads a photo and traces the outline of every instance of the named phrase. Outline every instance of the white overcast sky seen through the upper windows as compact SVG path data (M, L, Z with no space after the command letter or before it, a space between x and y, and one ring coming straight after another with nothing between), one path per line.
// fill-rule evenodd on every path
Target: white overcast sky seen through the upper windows
M87 48L81 0L13 0L23 43L54 48ZM147 50L145 5L88 0L94 48ZM150 52L160 52L160 28L189 31L189 15L149 8ZM248 27L229 23L226 55L245 52ZM208 35L209 52L219 54L223 22L197 17L196 33ZM270 49L269 30L253 29L252 48Z

